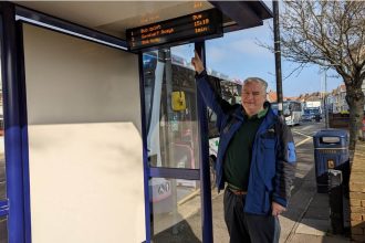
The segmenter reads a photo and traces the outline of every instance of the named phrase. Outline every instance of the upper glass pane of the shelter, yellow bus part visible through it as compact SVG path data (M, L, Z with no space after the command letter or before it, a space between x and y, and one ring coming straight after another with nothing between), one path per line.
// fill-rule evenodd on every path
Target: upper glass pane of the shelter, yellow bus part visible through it
M143 54L147 147L152 167L199 168L194 44Z

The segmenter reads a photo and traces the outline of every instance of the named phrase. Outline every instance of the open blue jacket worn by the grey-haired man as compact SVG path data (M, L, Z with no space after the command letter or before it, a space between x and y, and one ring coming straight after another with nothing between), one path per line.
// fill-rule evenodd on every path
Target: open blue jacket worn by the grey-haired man
M212 88L204 71L196 76L197 86L207 106L217 114L220 133L216 162L218 190L225 188L223 161L230 140L246 122L241 105L230 105ZM269 103L268 103L269 104ZM286 207L295 171L293 136L285 123L270 108L260 125L252 146L244 212L271 213L271 202Z

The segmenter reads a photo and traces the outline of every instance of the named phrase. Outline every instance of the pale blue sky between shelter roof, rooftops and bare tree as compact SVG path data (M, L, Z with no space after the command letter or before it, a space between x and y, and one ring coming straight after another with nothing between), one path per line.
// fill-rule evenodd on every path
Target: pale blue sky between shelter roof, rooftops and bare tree
M269 89L277 89L274 54L258 43L273 43L270 29L272 19L262 27L227 33L223 38L206 41L207 67L221 72L233 78L244 80L258 76L265 80ZM300 94L324 92L324 73L316 65L307 65L301 72L290 73L298 64L281 59L283 95L285 97ZM328 71L326 91L331 92L343 82Z

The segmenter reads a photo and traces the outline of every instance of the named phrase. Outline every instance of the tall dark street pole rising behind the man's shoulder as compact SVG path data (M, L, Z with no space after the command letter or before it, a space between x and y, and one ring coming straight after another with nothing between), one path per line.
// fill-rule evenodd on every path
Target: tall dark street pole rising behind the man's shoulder
M278 115L282 116L282 114L283 114L283 89L282 89L282 74L281 74L279 2L277 0L272 1L272 9L273 9L273 28L274 28L274 53L275 53Z

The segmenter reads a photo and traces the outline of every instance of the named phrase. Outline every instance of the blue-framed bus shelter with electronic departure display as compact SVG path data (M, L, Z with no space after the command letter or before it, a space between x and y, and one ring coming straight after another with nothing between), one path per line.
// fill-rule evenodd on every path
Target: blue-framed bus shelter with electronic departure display
M213 242L187 62L261 1L0 3L0 242Z

